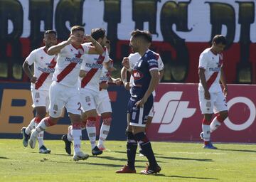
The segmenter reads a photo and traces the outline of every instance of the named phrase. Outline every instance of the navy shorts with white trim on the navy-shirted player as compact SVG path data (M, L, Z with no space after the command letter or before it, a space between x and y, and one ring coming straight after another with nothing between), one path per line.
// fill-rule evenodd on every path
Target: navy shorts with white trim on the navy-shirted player
M131 116L129 125L136 127L145 127L149 112L153 107L154 98L152 95L149 96L148 100L144 104L144 107L136 107L135 104L138 101L139 100L134 100L131 97L131 99L128 102L127 113L129 113Z

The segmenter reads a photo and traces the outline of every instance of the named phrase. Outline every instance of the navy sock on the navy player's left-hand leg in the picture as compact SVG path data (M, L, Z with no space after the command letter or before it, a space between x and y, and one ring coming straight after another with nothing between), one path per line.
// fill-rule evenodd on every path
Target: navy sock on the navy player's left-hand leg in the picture
M135 169L135 156L137 150L137 141L132 132L127 132L127 164L129 168Z

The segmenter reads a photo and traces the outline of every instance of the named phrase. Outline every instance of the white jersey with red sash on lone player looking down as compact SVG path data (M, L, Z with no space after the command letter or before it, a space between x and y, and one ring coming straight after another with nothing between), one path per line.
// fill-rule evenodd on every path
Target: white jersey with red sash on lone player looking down
M214 54L210 48L203 50L199 57L198 68L205 70L206 83L209 92L221 92L220 87L220 68L223 66L223 55ZM198 90L203 91L201 80L198 85Z

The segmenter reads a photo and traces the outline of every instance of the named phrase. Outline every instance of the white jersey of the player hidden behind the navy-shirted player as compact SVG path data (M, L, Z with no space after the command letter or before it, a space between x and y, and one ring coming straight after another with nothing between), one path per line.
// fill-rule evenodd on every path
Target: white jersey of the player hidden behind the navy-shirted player
M157 63L158 63L158 68L159 68L159 71L161 70L164 70L164 63L163 61L161 60L161 56L158 54L158 53L155 53L154 51L152 51L154 54L157 55L158 59L157 59ZM129 56L128 56L128 59L129 59L129 66L130 68L134 68L134 65L137 63L137 61L139 60L139 58L141 58L142 56L139 55L139 53L131 53ZM131 75L130 77L130 80L129 82L132 84L132 86L134 86L134 77ZM131 92L131 90L130 90ZM152 93L153 96L156 95L155 91Z

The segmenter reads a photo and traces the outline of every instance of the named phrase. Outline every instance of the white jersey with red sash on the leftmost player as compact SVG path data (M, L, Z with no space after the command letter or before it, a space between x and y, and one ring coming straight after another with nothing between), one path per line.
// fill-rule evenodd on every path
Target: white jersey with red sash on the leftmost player
M45 47L41 47L33 50L25 61L28 65L33 64L33 76L37 77L36 83L31 83L31 90L49 90L55 71L55 55L48 55Z

